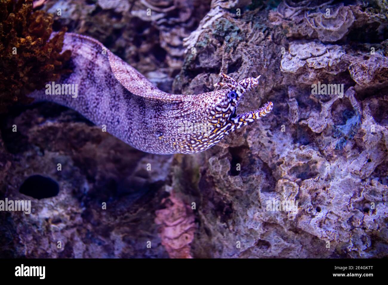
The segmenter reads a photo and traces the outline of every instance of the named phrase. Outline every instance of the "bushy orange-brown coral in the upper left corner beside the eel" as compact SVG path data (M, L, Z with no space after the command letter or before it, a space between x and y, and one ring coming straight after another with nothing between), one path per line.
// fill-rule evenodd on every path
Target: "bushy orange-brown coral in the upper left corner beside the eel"
M50 39L53 16L33 11L32 0L0 1L0 112L66 72L62 29Z

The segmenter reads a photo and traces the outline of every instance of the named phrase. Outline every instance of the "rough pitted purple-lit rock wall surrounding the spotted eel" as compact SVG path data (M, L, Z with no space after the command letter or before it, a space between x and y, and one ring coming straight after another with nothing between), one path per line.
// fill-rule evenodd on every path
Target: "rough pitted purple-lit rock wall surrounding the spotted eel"
M201 14L199 2L152 9L155 1L150 19L147 2L107 2L49 1L42 9L73 9L58 26L165 78L165 91L211 91L220 71L238 80L261 74L238 112L268 100L274 110L194 155L142 153L55 104L13 110L1 119L0 193L31 199L33 209L2 212L1 256L388 256L382 2L213 0ZM146 28L134 35L128 21ZM318 82L343 84L344 92L313 94ZM32 174L53 178L59 194L19 193ZM298 212L267 211L272 200L296 200Z

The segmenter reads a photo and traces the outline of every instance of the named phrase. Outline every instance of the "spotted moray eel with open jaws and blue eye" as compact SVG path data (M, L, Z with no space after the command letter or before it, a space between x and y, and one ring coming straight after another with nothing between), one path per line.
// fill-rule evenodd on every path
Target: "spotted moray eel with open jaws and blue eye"
M73 72L55 86L77 87L78 94L50 95L50 83L29 96L78 111L97 126L136 149L153 154L192 154L220 142L232 131L266 116L273 104L237 114L237 107L257 78L236 82L220 74L224 89L197 95L159 90L145 76L102 43L88 36L66 33L62 50L71 50ZM63 88L61 89L64 90ZM63 93L63 92L62 92Z

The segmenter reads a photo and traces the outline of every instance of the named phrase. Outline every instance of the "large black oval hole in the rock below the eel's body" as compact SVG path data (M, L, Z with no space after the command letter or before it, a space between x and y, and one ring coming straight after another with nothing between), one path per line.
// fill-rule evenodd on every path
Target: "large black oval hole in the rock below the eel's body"
M49 177L32 175L23 182L19 192L35 199L50 198L58 195L59 185Z

